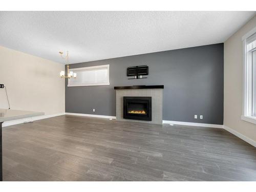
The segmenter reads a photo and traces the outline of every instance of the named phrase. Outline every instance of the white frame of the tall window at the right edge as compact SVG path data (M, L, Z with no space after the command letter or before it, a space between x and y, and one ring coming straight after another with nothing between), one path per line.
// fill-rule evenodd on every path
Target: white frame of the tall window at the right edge
M249 71L250 63L251 61L248 59L248 51L246 50L246 39L250 37L251 35L256 33L256 27L253 28L251 31L246 33L242 37L243 41L243 111L241 115L241 119L244 121L248 121L250 123L256 124L256 116L253 116L252 108L253 106L250 106L249 103L253 96L253 89L252 89L252 82L255 82L255 76L256 72ZM255 69L254 69L255 70ZM251 74L252 73L252 74ZM254 106L255 107L255 106Z

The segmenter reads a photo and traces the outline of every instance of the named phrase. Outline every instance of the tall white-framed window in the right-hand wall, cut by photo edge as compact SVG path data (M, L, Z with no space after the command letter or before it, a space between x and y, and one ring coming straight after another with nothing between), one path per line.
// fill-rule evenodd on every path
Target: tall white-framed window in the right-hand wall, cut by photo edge
M256 28L243 37L244 81L242 119L256 124Z

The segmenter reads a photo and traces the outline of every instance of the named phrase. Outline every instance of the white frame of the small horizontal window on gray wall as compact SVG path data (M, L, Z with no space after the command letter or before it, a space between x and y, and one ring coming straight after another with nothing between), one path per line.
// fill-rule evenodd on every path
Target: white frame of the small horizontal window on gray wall
M108 82L99 82L99 83L79 83L79 84L70 84L70 79L68 79L68 87L78 87L78 86L109 86L110 85L110 65L101 65L101 66L92 66L92 67L83 67L83 68L73 68L70 71L74 73L78 71L89 71L93 69L108 69Z

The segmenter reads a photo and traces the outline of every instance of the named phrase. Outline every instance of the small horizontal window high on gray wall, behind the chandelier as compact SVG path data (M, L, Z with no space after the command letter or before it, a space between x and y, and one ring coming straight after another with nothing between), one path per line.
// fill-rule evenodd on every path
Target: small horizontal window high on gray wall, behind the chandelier
M109 85L109 68L110 65L70 69L77 77L69 79L68 87Z

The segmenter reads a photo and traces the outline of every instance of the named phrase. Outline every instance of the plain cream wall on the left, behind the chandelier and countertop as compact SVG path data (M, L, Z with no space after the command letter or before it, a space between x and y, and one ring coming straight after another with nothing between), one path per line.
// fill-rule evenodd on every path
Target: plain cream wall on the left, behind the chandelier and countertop
M11 109L65 112L65 80L59 77L64 69L60 63L0 46L0 83L7 87ZM3 89L0 108L7 108Z

